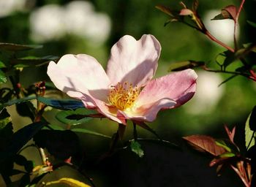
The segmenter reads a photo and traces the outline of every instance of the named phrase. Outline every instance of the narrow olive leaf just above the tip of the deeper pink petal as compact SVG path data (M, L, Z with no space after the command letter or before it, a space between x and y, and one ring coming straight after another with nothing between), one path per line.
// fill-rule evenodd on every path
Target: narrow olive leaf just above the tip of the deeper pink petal
M180 70L184 70L184 69L195 68L198 66L203 66L204 64L205 63L203 61L176 62L176 63L170 64L168 72L175 72L175 71L180 71Z

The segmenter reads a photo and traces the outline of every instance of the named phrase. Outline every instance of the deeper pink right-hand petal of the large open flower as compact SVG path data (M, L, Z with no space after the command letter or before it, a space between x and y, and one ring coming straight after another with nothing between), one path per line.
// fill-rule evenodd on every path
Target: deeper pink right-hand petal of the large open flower
M178 107L189 101L195 93L196 79L194 70L187 69L151 80L141 91L135 107L125 112L126 117L154 121L159 110Z

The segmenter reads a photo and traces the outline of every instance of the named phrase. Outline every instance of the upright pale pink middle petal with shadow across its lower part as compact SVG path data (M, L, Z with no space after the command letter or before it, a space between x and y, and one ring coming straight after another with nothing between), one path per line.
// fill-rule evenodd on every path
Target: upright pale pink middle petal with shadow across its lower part
M107 74L111 83L129 82L133 85L146 85L154 76L161 45L148 34L136 41L126 35L111 48Z

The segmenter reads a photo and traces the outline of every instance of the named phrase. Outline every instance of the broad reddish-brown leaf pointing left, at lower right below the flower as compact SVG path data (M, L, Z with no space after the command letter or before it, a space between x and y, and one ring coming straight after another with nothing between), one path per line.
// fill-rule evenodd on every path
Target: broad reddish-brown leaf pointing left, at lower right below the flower
M190 145L196 150L201 152L211 153L211 155L219 156L225 153L226 150L215 143L214 138L205 135L192 135L189 137L183 137Z

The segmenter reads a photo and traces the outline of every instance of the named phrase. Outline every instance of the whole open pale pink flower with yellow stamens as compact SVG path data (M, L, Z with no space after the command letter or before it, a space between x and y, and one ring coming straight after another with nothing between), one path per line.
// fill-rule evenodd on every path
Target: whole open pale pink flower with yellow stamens
M138 41L127 35L111 48L106 72L95 58L80 54L50 61L48 75L56 88L113 121L154 121L159 110L189 101L197 79L187 69L152 80L160 51L152 35Z

